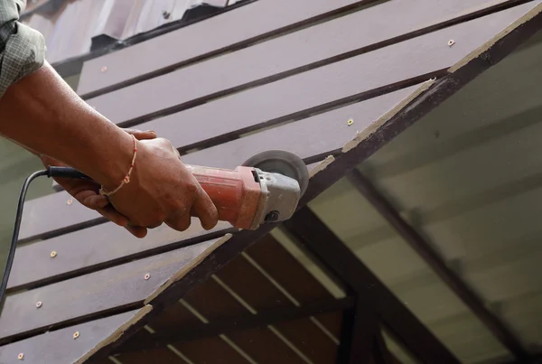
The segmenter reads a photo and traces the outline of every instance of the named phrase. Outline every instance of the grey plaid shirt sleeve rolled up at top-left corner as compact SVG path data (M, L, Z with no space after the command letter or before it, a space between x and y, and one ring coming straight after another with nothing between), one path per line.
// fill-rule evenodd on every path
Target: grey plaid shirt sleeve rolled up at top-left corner
M14 82L45 61L42 33L19 22L26 0L0 0L0 98Z

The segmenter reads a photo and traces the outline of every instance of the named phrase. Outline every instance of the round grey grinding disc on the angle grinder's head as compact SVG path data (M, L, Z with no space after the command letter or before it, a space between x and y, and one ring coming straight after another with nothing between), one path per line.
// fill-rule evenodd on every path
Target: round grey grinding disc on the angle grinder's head
M280 173L299 183L301 196L309 184L309 170L297 155L280 150L262 152L249 158L243 166L255 167L268 173Z

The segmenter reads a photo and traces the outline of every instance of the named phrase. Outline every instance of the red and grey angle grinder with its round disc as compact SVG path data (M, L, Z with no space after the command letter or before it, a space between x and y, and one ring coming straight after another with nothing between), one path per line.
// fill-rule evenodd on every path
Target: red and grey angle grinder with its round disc
M290 219L309 183L303 160L281 150L256 154L234 170L186 167L217 207L220 221L238 229ZM89 178L69 167L49 167L48 176Z

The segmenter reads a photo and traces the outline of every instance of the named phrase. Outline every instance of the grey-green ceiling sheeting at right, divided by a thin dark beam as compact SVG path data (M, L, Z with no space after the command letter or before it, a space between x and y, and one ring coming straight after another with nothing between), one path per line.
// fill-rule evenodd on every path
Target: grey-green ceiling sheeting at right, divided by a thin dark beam
M537 34L359 166L531 351L542 344L540 41ZM310 206L459 359L509 358L348 180Z

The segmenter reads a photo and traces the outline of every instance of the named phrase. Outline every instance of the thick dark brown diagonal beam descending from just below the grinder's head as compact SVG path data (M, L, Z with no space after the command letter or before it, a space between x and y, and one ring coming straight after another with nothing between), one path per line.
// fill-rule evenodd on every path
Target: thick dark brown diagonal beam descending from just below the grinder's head
M295 238L378 313L397 341L426 363L459 363L442 342L382 284L313 211L304 207L285 221Z

